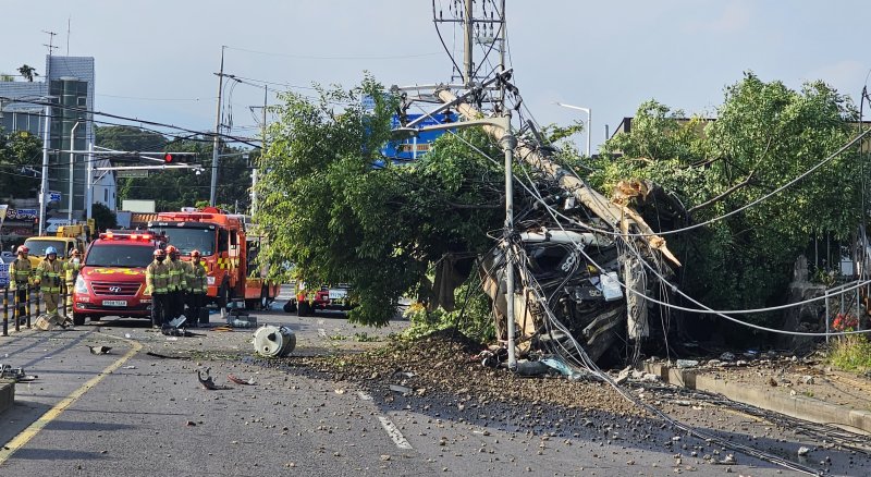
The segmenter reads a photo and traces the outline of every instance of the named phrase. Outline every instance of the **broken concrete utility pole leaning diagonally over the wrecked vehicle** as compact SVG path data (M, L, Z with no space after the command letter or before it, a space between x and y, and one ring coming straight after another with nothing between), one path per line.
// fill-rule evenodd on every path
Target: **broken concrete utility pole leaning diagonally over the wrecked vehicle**
M442 102L455 102L457 99L456 95L447 89L437 90L436 96L441 99ZM457 102L455 108L466 120L477 120L482 115L479 110L465 102ZM502 136L505 135L505 131L503 129L491 124L486 124L482 126L482 129L487 132L487 134L496 140L500 140ZM651 229L650 225L645 222L645 219L642 219L641 216L639 216L635 210L623 205L614 204L598 191L588 187L584 181L576 178L560 164L541 155L537 147L530 145L526 140L518 138L516 156L519 156L524 161L533 168L544 171L555 178L564 189L571 192L581 204L592 210L597 216L599 216L599 218L608 222L608 224L611 225L614 231L623 234L633 233L630 225L635 225L635 229L637 230L635 233L642 234L640 238L648 246L659 250L673 264L677 266L680 265L680 261L677 259L677 257L675 257L668 249L665 238L657 235L653 232L653 229Z

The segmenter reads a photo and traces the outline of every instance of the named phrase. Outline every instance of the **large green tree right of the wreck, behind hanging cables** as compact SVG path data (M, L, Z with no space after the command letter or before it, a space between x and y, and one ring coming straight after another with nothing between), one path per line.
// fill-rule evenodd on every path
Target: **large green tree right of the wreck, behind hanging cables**
M703 222L827 158L851 137L849 121L857 119L847 98L821 82L795 91L751 73L726 88L716 121L682 117L655 101L641 105L630 132L603 145L590 182L610 189L624 179L652 180L676 193L694 222ZM667 236L685 264L685 290L714 308L782 299L796 257L814 236L847 238L858 227L858 152L848 150L740 213Z

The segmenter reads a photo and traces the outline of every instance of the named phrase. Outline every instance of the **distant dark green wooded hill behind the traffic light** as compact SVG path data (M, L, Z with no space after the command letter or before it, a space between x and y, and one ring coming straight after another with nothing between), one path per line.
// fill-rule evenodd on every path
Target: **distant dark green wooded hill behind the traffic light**
M196 174L189 169L151 171L148 179L119 179L119 199L155 199L157 209L179 210L195 204L208 205L211 175L212 142L204 137L170 140L165 136L131 126L97 129L97 145L115 150L196 152L183 161L199 163L206 172ZM218 203L228 210L245 212L250 205L250 168L243 150L226 147L222 154L235 154L220 159Z

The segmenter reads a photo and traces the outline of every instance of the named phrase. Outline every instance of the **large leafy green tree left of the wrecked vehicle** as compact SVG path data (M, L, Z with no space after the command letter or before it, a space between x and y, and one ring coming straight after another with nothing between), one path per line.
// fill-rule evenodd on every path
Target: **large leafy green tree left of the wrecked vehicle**
M375 98L373 111L360 106L363 96ZM269 235L261 260L295 265L273 267L278 278L351 283L359 304L351 320L380 326L444 253L490 245L486 231L499 228L501 210L479 205L502 201L498 166L445 135L418 162L372 167L396 101L373 78L351 90L321 88L317 101L293 93L282 99L257 160L255 217ZM480 133L463 135L500 156Z

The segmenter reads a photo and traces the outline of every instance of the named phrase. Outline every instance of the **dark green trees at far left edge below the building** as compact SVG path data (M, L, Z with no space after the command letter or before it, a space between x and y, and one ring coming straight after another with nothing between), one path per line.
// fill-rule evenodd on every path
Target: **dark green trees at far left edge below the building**
M38 178L22 178L24 166L34 166L42 156L42 142L26 131L9 134L0 130L0 197L35 197Z

